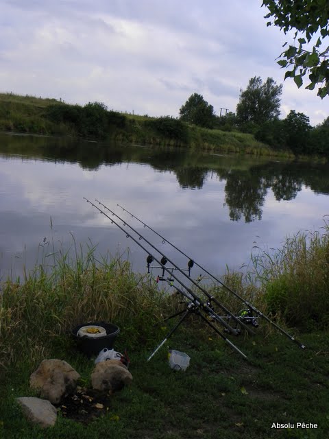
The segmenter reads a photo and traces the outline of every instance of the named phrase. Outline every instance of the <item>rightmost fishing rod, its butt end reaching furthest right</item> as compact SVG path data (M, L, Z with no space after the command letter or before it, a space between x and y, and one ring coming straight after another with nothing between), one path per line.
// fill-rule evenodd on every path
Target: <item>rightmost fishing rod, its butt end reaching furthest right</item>
M141 224L143 224L144 227L147 227L149 230L151 230L153 233L155 233L156 235L158 235L158 237L160 237L162 239L162 244L164 244L165 242L167 242L167 244L169 244L171 247L175 248L175 250L177 250L178 252L180 252L180 254L182 254L183 256L185 256L186 258L188 258L189 261L193 261L194 265L197 265L197 267L199 267L201 270L203 270L206 274L208 274L208 276L212 277L215 281L217 281L222 287L226 288L228 290L228 292L230 292L231 294L233 294L236 298L239 298L239 300L241 300L245 305L247 305L247 307L249 307L249 309L251 309L254 313L258 314L258 316L260 316L261 318L263 318L264 320L266 320L268 323L270 323L271 325L273 325L273 327L275 327L276 329L278 329L278 331L280 331L282 334L286 335L286 337L288 337L292 342L294 342L295 344L297 344L298 346L300 346L300 348L305 349L306 346L304 346L304 344L302 344L301 342L299 342L298 340L295 339L295 337L293 337L293 335L290 335L289 333L287 333L287 331L284 331L284 329L282 329L278 324L276 324L275 322L273 322L270 318L268 318L267 316L265 316L262 311L260 311L259 309L257 309L256 307L254 307L254 305L252 305L252 303L250 303L248 300L245 300L243 297L241 297L238 293L234 292L230 287L228 287L227 285L225 285L223 282L221 282L219 280L219 278L217 278L216 276L214 276L213 274L211 274L210 272L208 272L208 270L206 270L206 268L202 267L202 265L199 265L199 263L197 263L194 259L192 259L191 257L189 257L186 253L184 253L182 250L180 250L180 248L176 247L174 244L172 244L168 239L164 238L162 235L160 235L160 233L156 232L156 230L154 230L153 228L151 228L150 226L148 226L145 222L143 222L141 219L139 219L138 217L136 217L135 215L133 215L130 211L127 211L127 209L125 209L123 206L120 206L120 204L117 204L117 206L119 206L121 209L123 209L123 211L127 212L129 215L131 215L132 218L137 219L137 221L139 221Z

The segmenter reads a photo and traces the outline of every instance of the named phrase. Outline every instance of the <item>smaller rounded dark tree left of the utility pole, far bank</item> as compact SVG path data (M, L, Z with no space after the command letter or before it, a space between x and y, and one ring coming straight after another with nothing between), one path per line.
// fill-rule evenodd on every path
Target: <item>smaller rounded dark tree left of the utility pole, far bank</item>
M214 108L202 95L194 93L180 108L180 119L204 128L212 128L215 120Z

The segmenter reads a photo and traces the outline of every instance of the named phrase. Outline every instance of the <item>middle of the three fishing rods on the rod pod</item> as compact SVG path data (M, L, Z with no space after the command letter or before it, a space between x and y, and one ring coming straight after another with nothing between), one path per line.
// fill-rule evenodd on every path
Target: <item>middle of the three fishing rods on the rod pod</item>
M181 274L183 274L186 278L188 278L189 281L191 281L191 283L193 283L193 285L195 285L206 297L208 297L208 299L212 302L214 302L218 307L220 307L221 309L223 309L223 311L225 311L226 313L228 313L228 315L235 320L235 322L237 324L239 324L241 327L243 327L243 329L245 329L245 331L249 332L250 334L254 335L254 331L252 331L252 329L250 329L249 327L247 327L246 324L244 324L242 322L241 319L237 318L236 316L234 316L233 313L231 313L226 307L224 307L224 305L221 304L221 302L219 302L219 300L217 300L217 298L215 298L214 296L211 296L206 289L204 289L201 285L199 285L199 283L197 283L196 281L194 281L194 279L192 279L190 276L188 276L188 274L186 274L184 272L184 270L182 270L181 268L178 267L178 265L176 265L175 263L173 263L173 261L171 261L169 259L169 257L167 257L164 253L162 253L160 250L158 250L158 248L156 248L153 244L151 244L151 242L149 242L145 237L143 237L143 235L141 235L141 233L139 233L136 229L134 229L132 226L130 226L130 224L128 224L127 222L125 222L124 219L122 219L121 217L119 217L119 215L117 215L117 213L114 213L113 211L111 211L111 209L109 209L105 204L101 203L99 200L95 200L97 201L99 204L101 204L101 206L103 206L104 209L108 210L110 213L112 213L112 216L116 216L118 219L120 219L121 222L123 222L123 225L128 226L134 233L136 233L136 235L139 236L139 239L143 239L149 246L151 246L151 248L154 248L154 250L156 250L156 252L160 253L162 258L164 258L166 260L166 263L169 262L171 263L171 265L173 265L173 267L175 268L175 270L178 270ZM112 218L110 218L112 220ZM163 260L163 259L162 259ZM148 263L148 261L147 261ZM161 263L161 262L160 262ZM164 263L161 263L162 268L164 267ZM171 272L171 276L172 276L172 272ZM234 330L235 331L235 330ZM236 331L234 333L234 335L236 335Z

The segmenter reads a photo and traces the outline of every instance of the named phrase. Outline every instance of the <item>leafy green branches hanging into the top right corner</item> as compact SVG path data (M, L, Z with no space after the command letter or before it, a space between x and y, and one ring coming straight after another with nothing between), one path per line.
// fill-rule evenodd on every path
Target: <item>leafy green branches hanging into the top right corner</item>
M295 29L293 45L279 56L278 64L282 68L292 67L284 79L293 78L300 88L308 75L308 90L319 84L317 95L321 99L329 95L329 45L324 45L329 36L328 0L263 0L263 5L269 9L265 18L272 19L267 26L278 26L285 34ZM312 46L313 37L317 42ZM283 47L286 45L287 42Z

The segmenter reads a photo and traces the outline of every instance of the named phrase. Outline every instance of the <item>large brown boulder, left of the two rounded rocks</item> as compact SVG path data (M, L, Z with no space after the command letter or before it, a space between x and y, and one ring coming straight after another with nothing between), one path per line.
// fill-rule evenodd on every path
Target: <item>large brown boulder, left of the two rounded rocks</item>
M66 361L44 359L32 373L29 385L40 390L40 396L53 404L58 404L62 396L73 392L80 375Z

